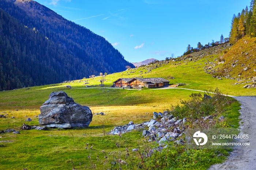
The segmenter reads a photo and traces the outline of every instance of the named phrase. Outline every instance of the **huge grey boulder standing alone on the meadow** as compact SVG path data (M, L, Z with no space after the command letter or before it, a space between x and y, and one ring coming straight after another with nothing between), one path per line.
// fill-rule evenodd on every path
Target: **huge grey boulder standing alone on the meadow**
M88 127L93 118L91 110L82 106L63 92L52 92L40 107L40 125L52 128Z

